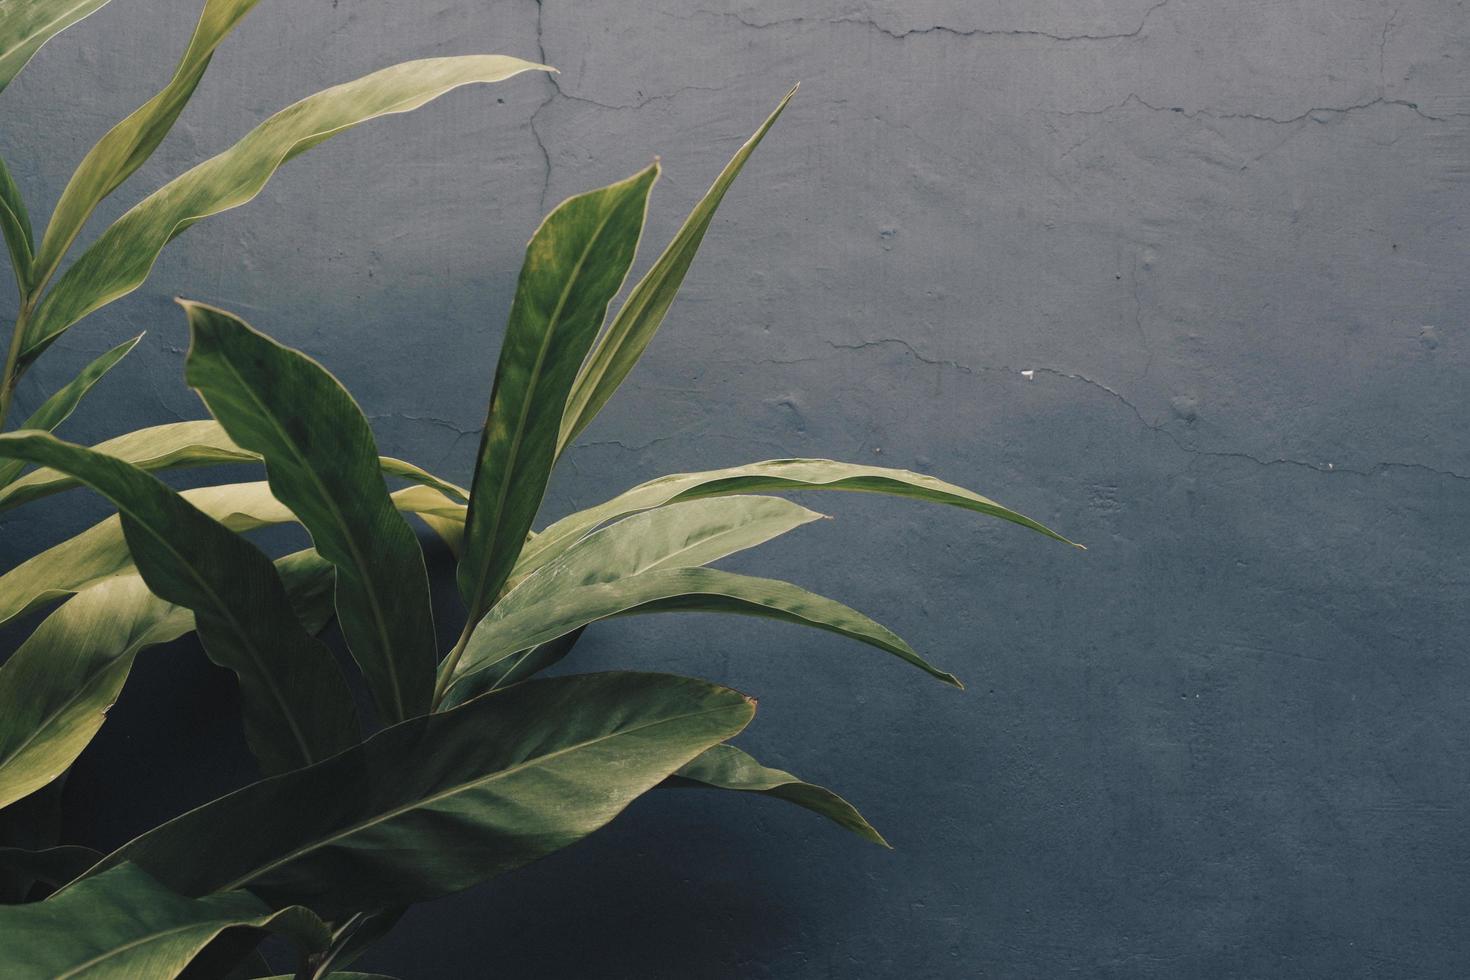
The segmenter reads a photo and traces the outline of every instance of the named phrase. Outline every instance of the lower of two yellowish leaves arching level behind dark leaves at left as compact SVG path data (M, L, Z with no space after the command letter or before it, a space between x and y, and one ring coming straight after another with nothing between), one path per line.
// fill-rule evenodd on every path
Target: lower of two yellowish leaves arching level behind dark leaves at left
M295 514L270 494L265 482L201 486L181 491L181 497L235 532L295 520ZM407 513L437 516L448 523L459 516L463 522L463 507L426 486L395 491L392 500ZM116 516L107 517L0 574L0 624L88 585L131 572L132 555L122 525Z

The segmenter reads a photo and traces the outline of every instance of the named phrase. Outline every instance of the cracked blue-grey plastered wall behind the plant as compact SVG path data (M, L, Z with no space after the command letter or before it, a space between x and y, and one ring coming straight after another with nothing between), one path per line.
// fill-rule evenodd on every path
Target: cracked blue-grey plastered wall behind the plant
M162 84L196 7L118 0L4 94L0 153L37 210ZM413 912L366 965L1470 971L1463 1L266 0L109 212L322 85L487 50L562 75L290 165L69 335L25 403L148 329L69 435L200 416L169 304L185 294L331 366L387 453L466 478L544 209L657 153L662 247L801 79L548 513L664 472L832 455L957 480L1091 550L807 501L839 520L736 567L872 611L967 692L710 619L598 627L576 663L759 695L742 743L848 795L895 851L775 802L657 795ZM16 513L4 561L100 513ZM115 843L243 779L220 704L194 648L151 654L78 771L74 833Z

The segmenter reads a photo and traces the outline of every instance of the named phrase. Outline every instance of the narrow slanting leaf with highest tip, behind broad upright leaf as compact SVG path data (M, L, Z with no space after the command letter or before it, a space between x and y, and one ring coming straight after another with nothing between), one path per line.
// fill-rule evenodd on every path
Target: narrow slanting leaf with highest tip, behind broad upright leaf
M557 438L559 454L603 410L607 400L623 383L628 372L642 357L653 335L663 323L664 314L669 313L673 298L679 294L679 287L684 285L684 276L694 262L694 254L700 250L700 242L704 241L704 232L709 231L710 222L714 219L714 210L725 200L725 192L735 182L745 160L760 145L761 138L775 125L791 97L797 94L797 88L794 85L786 93L786 97L766 118L766 122L760 123L760 128L725 165L710 190L684 219L673 241L628 294L628 301L617 310L613 325L592 347L592 353L582 364L576 383L572 386L572 395L567 398L566 414L562 417L562 432Z

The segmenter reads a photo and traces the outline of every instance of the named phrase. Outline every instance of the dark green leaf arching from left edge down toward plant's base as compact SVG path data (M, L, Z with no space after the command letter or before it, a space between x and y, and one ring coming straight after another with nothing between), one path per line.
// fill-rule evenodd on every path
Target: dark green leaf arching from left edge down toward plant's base
M297 620L254 545L143 470L49 433L0 435L0 457L65 470L116 504L148 588L193 610L204 651L240 677L245 739L266 771L356 743L351 692L331 651Z

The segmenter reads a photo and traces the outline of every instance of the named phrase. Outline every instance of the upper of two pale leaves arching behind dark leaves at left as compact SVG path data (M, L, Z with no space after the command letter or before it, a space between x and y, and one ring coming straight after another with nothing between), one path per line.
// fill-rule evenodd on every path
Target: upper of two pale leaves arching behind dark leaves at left
M148 470L150 473L191 466L260 461L260 457L254 453L235 445L234 439L225 435L225 430L213 419L169 422L147 429L135 429L113 439L98 442L93 448L98 453L115 455L119 460L126 460L140 470ZM413 483L432 486L460 504L469 502L469 491L442 480L413 463L404 463L390 455L381 457L378 463L382 466L385 476L395 476ZM0 510L19 507L21 504L74 486L76 486L76 480L72 478L43 467L26 473L9 486L0 488ZM463 511L463 507L459 508L460 523L465 523Z

